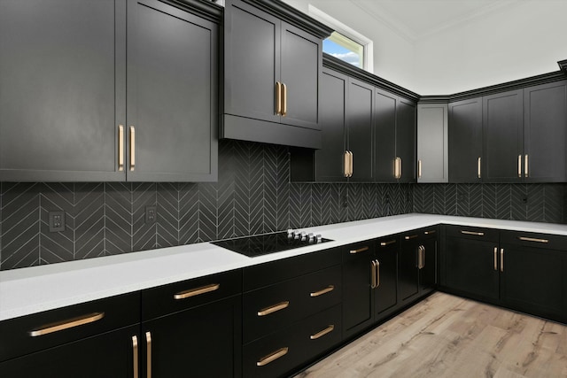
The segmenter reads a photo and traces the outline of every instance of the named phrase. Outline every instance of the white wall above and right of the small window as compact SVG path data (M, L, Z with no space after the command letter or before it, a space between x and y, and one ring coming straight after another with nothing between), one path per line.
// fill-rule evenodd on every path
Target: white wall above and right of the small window
M345 0L283 0L308 13L308 4L374 41L374 74L404 88L414 87L414 52L412 42L370 17Z

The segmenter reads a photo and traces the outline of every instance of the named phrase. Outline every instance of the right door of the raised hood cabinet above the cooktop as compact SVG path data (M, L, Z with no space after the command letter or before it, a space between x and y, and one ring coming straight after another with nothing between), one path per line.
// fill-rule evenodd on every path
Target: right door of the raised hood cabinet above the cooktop
M286 114L282 123L319 129L319 84L322 42L282 22L281 81L285 85Z

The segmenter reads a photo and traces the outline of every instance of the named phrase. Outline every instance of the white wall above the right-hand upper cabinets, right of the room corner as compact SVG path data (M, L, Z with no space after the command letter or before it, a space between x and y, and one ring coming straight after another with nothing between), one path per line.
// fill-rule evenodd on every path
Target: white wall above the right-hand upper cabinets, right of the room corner
M567 1L523 1L416 42L411 89L450 95L559 70Z

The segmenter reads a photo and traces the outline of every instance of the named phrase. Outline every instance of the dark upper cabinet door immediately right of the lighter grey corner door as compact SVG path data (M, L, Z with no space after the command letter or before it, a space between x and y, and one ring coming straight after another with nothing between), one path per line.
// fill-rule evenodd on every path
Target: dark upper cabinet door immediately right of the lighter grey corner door
M448 136L449 181L480 182L482 97L449 104Z

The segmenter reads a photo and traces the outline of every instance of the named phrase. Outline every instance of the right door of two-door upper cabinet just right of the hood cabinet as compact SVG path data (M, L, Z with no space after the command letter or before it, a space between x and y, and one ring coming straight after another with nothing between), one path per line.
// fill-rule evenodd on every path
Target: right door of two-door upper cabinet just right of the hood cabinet
M348 150L353 155L350 181L372 181L372 120L374 87L351 79L347 89Z

